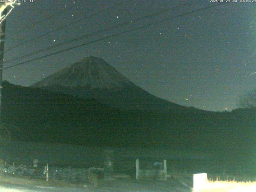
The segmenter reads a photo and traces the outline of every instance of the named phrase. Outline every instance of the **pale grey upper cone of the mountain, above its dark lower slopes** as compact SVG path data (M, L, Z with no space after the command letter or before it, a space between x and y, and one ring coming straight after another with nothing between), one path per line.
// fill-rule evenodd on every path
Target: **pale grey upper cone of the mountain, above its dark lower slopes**
M43 86L82 86L91 89L124 88L130 81L97 57L86 57L43 80L34 84L34 87Z

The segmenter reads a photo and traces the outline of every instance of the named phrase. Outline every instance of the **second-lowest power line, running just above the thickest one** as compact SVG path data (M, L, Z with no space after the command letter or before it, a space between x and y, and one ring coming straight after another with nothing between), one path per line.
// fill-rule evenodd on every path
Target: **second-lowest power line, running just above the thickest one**
M38 51L35 51L35 52L32 52L32 53L26 54L24 56L20 56L20 57L14 58L12 60L8 60L5 63L9 63L9 62L12 62L14 60L26 58L28 56L32 56L32 55L38 54L40 52L48 51L48 50L51 50L53 48L59 47L59 46L64 45L64 44L70 44L70 43L75 42L77 40L82 40L84 38L88 38L89 36L92 36L92 35L95 35L95 34L99 34L101 32L106 32L106 31L110 31L110 30L115 29L115 28L120 28L122 26L125 26L126 24L131 24L131 23L134 23L134 22L138 22L139 20L142 20L142 19L146 19L146 18L149 18L149 17L152 17L152 16L156 16L156 15L160 15L160 14L164 14L164 13L169 12L170 10L173 10L175 8L182 7L182 6L187 6L189 4L191 4L191 3L186 3L186 4L175 6L173 8L168 8L168 9L160 10L160 11L154 12L152 14L149 14L149 15L146 15L146 16L143 16L143 17L140 17L140 18L136 18L136 19L133 19L133 20L130 20L130 21L127 21L127 22L123 22L123 23L117 24L117 25L109 27L109 28L104 28L102 30L98 30L96 32L92 32L92 33L86 34L84 36L81 36L81 37L78 37L78 38L74 38L74 39L68 40L66 42L62 42L60 44L57 44L57 45L54 45L54 46L50 46L50 47L47 47L47 48L44 48L44 49L41 49L41 50L38 50Z

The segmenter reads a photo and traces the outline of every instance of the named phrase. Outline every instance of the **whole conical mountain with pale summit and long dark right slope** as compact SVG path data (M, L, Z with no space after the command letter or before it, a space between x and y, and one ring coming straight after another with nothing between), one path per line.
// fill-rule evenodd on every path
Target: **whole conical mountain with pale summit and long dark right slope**
M149 94L104 60L92 56L44 78L32 87L80 98L94 98L120 109L192 110Z

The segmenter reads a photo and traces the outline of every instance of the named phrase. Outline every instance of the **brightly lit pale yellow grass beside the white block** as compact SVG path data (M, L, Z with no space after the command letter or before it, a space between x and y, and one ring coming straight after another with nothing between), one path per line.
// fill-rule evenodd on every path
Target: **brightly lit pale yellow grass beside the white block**
M208 181L204 190L195 192L256 192L256 182Z

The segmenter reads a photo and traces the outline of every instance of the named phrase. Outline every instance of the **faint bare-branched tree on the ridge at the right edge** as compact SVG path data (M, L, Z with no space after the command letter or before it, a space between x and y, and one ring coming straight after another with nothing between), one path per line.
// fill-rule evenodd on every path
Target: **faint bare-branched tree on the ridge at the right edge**
M256 108L256 89L240 96L238 106L241 108Z

